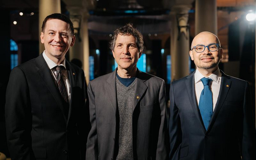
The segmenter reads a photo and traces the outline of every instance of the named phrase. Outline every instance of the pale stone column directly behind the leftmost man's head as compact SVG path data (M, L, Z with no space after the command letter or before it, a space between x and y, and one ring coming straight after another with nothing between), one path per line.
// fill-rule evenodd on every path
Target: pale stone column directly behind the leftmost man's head
M43 21L53 13L61 13L60 0L39 0L39 54L44 51L44 44L40 40Z

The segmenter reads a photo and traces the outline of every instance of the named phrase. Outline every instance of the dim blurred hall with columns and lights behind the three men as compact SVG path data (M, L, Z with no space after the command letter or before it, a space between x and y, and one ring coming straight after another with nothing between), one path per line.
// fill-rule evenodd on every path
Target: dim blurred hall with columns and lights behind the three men
M7 157L5 90L13 67L43 52L41 25L52 13L70 17L76 42L66 59L80 65L87 83L112 72L113 31L127 23L142 32L146 49L138 68L170 83L195 70L193 37L209 31L223 48L219 68L250 83L255 112L255 0L1 0L0 152ZM0 154L1 159L1 154Z

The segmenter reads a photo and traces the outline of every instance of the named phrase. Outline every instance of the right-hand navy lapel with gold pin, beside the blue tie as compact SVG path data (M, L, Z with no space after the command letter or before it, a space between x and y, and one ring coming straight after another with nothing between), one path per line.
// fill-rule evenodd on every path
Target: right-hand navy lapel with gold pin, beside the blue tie
M218 100L217 100L217 103L216 103L216 106L215 106L212 118L210 120L207 132L213 126L213 124L214 124L214 122L215 122L215 120L216 120L216 118L218 116L218 113L219 113L221 107L223 106L223 103L224 103L224 101L225 101L225 99L227 97L229 88L231 87L231 82L232 81L231 81L230 77L227 76L222 71L221 71L221 74L222 74L222 76L221 76L220 92L219 92Z

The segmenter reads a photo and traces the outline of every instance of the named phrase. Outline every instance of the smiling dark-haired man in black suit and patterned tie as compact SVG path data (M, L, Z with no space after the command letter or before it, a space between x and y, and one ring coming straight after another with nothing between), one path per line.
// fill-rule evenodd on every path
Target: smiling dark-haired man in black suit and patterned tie
M84 72L65 60L75 42L73 24L63 14L51 14L40 37L45 51L10 74L5 116L11 158L85 158L89 110L87 116Z

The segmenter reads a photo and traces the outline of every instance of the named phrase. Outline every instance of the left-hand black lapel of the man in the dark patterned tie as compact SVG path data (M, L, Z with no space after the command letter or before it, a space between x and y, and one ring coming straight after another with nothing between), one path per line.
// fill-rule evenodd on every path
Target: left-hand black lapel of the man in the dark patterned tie
M57 89L57 86L55 84L55 81L52 77L51 71L47 65L47 63L45 62L43 55L40 54L37 58L36 58L36 65L38 67L38 71L37 73L41 76L42 80L45 82L46 87L49 89L50 93L52 94L52 96L54 97L54 99L56 100L58 106L61 109L61 112L64 116L65 121L67 122L67 118L65 116L65 112L63 109L63 102L62 102L62 97Z

